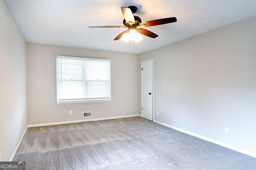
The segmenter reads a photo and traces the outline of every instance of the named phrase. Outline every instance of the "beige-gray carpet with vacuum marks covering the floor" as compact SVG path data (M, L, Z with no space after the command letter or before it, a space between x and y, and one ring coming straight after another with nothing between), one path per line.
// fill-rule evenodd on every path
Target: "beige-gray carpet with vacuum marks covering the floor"
M28 128L13 161L27 170L256 169L256 158L141 117Z

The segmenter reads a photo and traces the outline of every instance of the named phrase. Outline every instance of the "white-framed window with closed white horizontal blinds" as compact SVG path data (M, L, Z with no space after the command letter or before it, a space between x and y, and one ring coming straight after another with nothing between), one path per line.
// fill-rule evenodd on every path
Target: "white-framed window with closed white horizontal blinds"
M111 61L56 56L57 103L111 101Z

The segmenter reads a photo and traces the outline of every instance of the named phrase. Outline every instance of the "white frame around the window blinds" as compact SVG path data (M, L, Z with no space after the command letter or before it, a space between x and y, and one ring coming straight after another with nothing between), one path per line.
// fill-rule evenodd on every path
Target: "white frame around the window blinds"
M66 59L82 59L82 60L90 60L90 61L108 61L109 62L109 86L110 86L110 96L108 99L102 98L94 98L94 99L82 99L82 100L59 100L58 98L58 58L66 58ZM70 57L70 56L60 56L56 55L56 104L64 104L64 103L84 103L84 102L110 102L111 101L111 60L110 59L96 59L96 58L85 58L85 57Z

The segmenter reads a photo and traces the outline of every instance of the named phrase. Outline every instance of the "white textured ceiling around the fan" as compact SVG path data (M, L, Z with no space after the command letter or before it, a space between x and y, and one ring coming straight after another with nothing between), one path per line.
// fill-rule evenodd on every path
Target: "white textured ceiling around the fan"
M27 42L143 53L256 16L256 0L5 0ZM122 6L134 5L143 21L176 17L177 22L145 27L157 35L138 43L113 39L127 28Z

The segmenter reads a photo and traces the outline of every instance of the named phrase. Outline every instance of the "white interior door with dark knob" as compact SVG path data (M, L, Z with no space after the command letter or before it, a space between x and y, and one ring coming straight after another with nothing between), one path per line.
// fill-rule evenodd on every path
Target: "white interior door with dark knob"
M142 117L153 120L153 60L142 61Z

